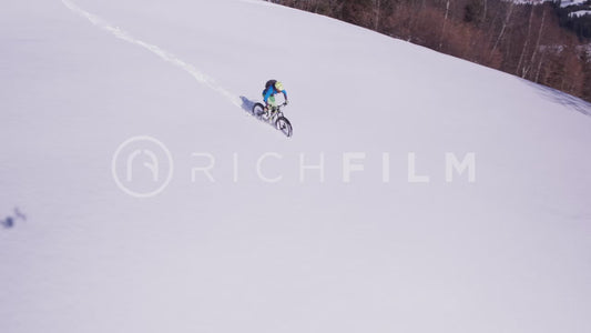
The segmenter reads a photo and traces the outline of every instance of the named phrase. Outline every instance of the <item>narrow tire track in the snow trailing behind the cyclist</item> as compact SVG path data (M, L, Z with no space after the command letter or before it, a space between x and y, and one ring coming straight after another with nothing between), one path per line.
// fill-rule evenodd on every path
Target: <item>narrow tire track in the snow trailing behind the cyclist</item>
M86 18L92 24L99 27L102 30L105 30L105 31L112 33L114 37L116 37L116 38L119 38L121 40L124 40L124 41L126 41L129 43L142 47L142 48L146 49L147 51L156 54L162 60L164 60L164 61L166 61L166 62L169 62L169 63L171 63L173 65L180 67L181 69L183 69L184 71L190 73L193 78L195 78L195 80L197 80L200 83L207 85L208 88L211 88L215 92L217 92L221 95L223 95L226 99L228 99L234 105L241 108L242 101L241 101L240 98L237 98L236 95L234 95L230 91L227 91L224 88L222 88L218 84L216 84L215 81L212 78L210 78L206 74L204 74L203 72L201 72L197 68L195 68L191 63L184 62L183 60L181 60L181 59L176 58L174 54L172 54L172 53L159 48L157 46L154 46L154 44L151 44L151 43L147 43L147 42L144 42L144 41L140 40L140 39L134 38L129 32L126 32L124 30L121 30L119 27L111 26L105 20L101 19L100 17L98 17L95 14L92 14L92 13L83 10L82 8L75 6L73 2L71 2L70 0L62 0L62 3L68 9L73 11L74 13L77 13L77 14L83 17L83 18Z

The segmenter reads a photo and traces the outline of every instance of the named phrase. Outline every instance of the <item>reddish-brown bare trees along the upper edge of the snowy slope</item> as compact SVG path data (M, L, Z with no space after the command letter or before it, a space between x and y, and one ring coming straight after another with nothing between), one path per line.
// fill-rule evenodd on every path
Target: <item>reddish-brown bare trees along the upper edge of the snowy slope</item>
M276 0L591 101L591 54L558 3L501 0Z

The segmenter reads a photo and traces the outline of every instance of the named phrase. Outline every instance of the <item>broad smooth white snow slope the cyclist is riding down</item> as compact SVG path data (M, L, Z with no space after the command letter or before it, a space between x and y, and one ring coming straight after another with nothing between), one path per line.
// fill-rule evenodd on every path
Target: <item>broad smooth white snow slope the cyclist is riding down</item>
M589 104L263 1L0 27L0 332L591 331Z

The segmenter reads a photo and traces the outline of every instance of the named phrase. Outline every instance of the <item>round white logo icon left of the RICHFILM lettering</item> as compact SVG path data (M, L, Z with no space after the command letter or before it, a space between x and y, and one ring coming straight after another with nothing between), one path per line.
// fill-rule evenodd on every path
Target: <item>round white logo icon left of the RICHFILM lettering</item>
M116 185L135 198L151 198L164 191L172 180L173 169L169 149L147 135L125 140L111 162Z

